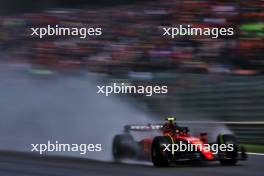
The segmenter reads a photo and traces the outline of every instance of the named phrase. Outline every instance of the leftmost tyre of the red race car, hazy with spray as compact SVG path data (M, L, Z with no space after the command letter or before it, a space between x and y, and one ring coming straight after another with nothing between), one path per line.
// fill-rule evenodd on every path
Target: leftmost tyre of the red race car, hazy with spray
M134 155L133 146L135 141L130 134L119 134L113 139L112 153L115 161Z

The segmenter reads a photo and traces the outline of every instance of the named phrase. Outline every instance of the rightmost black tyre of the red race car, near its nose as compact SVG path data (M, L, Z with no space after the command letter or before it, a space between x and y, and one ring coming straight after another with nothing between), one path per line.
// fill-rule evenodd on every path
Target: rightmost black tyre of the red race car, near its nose
M218 156L222 165L236 165L238 157L238 144L236 137L232 134L218 135L217 143L219 146L221 144L233 145L232 151L218 151Z

